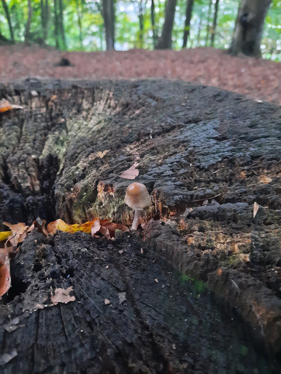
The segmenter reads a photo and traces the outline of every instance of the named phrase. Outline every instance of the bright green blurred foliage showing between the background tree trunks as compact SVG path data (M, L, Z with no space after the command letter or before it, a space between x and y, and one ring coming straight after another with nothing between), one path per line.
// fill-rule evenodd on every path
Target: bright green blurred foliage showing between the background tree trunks
M41 4L46 0L31 0L33 15L30 25L29 42L56 45L54 0L48 0L48 24L46 39L43 40ZM57 3L59 0L57 0ZM24 42L25 25L28 18L28 0L6 0L16 42ZM165 16L165 0L154 0L156 34L161 32ZM194 0L190 23L188 47L209 46L214 3L210 0ZM181 49L184 33L184 20L187 0L178 0L173 27L173 48ZM215 33L215 47L228 49L231 44L239 0L220 0L218 23ZM102 16L102 0L63 0L63 25L68 50L105 50L105 31ZM140 31L140 12L143 18L143 31ZM46 13L46 12L45 12ZM208 13L209 27L208 27ZM264 58L281 60L281 1L272 0L266 16L262 54ZM208 31L209 30L209 31ZM58 47L64 43L58 30ZM0 32L9 39L10 32L0 2ZM209 35L207 35L209 33ZM151 25L151 0L115 1L115 47L117 50L130 48L153 49Z

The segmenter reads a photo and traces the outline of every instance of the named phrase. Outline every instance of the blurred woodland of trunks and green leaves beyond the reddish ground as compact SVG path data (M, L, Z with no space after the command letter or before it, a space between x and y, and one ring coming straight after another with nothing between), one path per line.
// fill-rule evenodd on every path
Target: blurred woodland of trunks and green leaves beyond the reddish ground
M257 56L250 42L244 50L233 47L238 27L241 39L247 33L251 39L253 29L260 28L262 39L254 38L262 57L281 60L278 0L0 1L2 45L23 42L70 51L211 46Z

